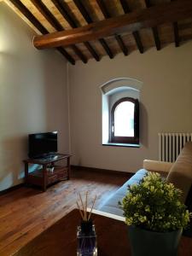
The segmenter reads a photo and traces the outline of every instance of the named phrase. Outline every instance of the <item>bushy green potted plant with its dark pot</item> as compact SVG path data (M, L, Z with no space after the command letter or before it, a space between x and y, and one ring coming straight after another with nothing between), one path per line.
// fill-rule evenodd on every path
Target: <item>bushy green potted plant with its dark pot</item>
M181 193L156 172L148 172L140 183L128 187L119 205L129 226L132 256L177 255L191 216L179 201Z

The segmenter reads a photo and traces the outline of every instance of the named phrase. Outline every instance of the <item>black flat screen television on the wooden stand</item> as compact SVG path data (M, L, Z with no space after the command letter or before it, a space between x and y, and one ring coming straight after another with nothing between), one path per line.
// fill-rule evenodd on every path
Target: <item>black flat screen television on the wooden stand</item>
M42 158L57 152L57 131L28 135L28 156Z

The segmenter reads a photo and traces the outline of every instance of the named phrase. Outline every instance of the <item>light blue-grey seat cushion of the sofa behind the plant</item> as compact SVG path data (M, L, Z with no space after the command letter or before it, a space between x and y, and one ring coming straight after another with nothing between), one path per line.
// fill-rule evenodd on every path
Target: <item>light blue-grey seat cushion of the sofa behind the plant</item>
M127 193L127 186L134 183L139 183L144 175L147 173L145 169L141 169L136 172L126 183L123 184L107 201L105 201L102 207L99 208L102 212L109 212L115 215L123 216L123 211L119 208L119 201L122 201L123 197Z

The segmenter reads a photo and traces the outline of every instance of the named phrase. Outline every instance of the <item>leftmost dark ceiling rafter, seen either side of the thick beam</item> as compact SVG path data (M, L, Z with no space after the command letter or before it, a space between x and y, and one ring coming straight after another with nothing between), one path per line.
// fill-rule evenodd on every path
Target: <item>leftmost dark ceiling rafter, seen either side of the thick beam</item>
M35 26L39 32L41 32L44 35L49 33L47 29L35 18L35 16L32 15L32 13L26 8L26 6L23 3L21 3L18 0L9 0L9 1L13 3L17 9L20 10L20 13L22 15L26 16L26 18L30 20L30 22L32 22L32 25ZM67 61L69 61L73 65L75 64L73 57L69 55L65 49L61 47L57 47L56 49L61 53L61 55L65 56Z

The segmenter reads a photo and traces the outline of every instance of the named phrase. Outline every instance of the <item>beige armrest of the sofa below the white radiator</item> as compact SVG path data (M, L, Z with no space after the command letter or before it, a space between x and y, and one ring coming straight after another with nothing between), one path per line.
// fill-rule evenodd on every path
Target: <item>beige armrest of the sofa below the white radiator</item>
M158 160L143 160L143 168L150 172L160 172L167 175L173 163Z

